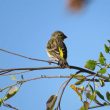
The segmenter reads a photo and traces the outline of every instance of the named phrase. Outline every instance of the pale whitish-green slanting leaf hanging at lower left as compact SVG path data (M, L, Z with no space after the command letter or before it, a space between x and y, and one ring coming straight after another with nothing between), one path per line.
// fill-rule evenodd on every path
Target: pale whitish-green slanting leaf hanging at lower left
M8 92L7 92L7 94L5 95L5 97L3 98L3 100L5 101L5 100L7 100L7 99L13 97L13 96L18 92L18 90L19 90L19 88L18 88L17 86L11 87L11 88L8 90Z

